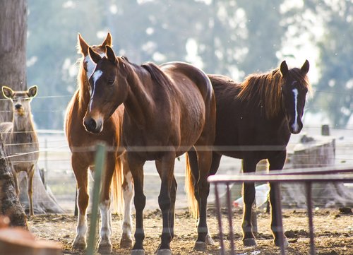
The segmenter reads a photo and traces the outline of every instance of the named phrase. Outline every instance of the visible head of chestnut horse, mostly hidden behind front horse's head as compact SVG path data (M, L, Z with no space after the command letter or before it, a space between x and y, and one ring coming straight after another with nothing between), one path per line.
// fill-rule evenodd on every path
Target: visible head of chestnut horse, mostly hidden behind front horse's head
M78 47L78 53L83 55L83 71L85 72L85 76L87 78L90 78L92 75L93 71L95 70L95 62L90 59L90 56L88 54L88 48L91 47L94 52L97 52L97 54L100 54L101 57L104 57L105 55L105 46L108 45L109 47L112 47L112 35L110 33L107 33L107 37L105 40L102 42L102 45L88 45L85 40L83 40L83 37L78 34L77 35L77 47Z

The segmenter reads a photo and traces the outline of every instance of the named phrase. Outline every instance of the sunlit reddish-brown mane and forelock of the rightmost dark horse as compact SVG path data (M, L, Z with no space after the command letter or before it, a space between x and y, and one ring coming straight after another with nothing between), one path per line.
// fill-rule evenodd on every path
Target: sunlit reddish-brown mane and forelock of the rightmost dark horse
M311 90L310 83L306 76L303 76L298 68L289 69L289 76L292 76L301 84ZM245 81L239 84L240 92L237 98L249 104L263 106L267 118L273 118L282 109L282 85L285 78L280 69L274 69L268 73L254 73L246 77Z

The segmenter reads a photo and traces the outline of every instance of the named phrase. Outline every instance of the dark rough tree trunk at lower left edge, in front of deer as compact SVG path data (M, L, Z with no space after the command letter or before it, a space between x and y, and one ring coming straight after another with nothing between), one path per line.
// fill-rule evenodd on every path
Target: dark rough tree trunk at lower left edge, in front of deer
M0 140L1 141L1 140ZM12 226L27 228L25 211L18 200L14 188L13 176L4 158L4 146L0 142L0 215L10 218Z

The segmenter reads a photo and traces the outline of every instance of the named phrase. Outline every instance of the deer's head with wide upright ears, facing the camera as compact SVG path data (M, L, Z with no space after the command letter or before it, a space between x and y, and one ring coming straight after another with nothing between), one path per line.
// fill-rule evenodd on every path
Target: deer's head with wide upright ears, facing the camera
M30 101L37 95L37 86L34 85L26 91L13 91L6 86L2 87L4 97L11 100L14 117L29 117Z

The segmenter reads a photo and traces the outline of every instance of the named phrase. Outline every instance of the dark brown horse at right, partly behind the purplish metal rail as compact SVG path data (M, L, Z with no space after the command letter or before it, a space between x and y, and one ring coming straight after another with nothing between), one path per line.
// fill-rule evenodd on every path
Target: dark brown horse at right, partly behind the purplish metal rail
M309 61L300 69L288 69L285 61L279 69L253 74L243 83L235 83L226 76L209 75L215 90L217 121L213 162L210 174L215 174L222 155L241 158L243 171L255 172L260 160L267 159L270 170L282 170L291 134L298 134L303 123L306 93L311 89L306 78ZM188 153L189 174L198 178L196 155ZM276 184L270 183L272 206L271 229L275 244L280 245L275 199ZM192 191L191 191L192 192ZM190 192L189 192L190 193ZM189 196L192 193L189 194ZM251 206L255 198L253 183L244 184L243 242L256 245L251 226ZM287 244L287 240L285 240Z

